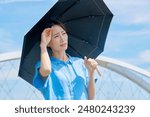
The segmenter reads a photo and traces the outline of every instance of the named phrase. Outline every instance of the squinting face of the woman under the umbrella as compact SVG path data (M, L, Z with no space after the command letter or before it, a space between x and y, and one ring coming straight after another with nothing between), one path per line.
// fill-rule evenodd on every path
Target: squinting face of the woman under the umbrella
M68 35L59 25L52 26L52 38L49 47L53 52L65 51L68 48Z

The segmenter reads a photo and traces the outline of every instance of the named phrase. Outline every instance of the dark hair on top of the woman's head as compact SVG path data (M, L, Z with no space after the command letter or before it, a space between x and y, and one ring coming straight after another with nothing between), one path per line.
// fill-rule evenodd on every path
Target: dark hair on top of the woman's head
M66 31L65 25L64 25L62 22L58 21L58 20L50 20L50 23L47 24L46 28L52 27L52 26L54 26L54 25L58 25L58 26L60 26L62 29L64 29L64 30Z

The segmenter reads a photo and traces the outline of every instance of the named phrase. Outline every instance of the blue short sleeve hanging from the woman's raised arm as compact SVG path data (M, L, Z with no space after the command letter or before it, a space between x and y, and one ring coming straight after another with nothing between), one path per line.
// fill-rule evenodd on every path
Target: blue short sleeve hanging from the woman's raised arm
M41 91L42 89L44 89L47 86L48 77L44 78L44 79L46 79L44 81L43 77L39 73L39 68L40 68L40 62L37 62L37 64L35 65L35 74L34 74L34 78L33 78L33 86L35 86L38 90Z

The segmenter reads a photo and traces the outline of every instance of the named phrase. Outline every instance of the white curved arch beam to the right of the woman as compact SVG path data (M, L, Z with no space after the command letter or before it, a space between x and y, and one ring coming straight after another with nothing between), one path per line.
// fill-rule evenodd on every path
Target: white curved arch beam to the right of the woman
M100 56L99 59L96 59L96 61L100 66L123 75L125 78L128 78L129 80L131 80L132 82L136 83L141 88L146 90L148 93L150 93L150 84L146 82L144 79L142 79L142 77L135 74L138 73L140 75L144 75L150 80L150 73L148 71L104 56Z

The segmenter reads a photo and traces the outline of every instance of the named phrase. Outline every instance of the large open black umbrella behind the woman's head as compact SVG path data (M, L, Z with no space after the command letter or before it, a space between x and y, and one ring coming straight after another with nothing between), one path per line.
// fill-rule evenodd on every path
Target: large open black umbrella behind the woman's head
M41 32L50 19L65 24L69 36L67 53L96 58L104 50L112 17L103 0L59 0L24 36L19 76L32 84L35 64L40 60Z

